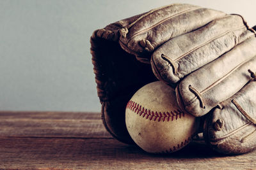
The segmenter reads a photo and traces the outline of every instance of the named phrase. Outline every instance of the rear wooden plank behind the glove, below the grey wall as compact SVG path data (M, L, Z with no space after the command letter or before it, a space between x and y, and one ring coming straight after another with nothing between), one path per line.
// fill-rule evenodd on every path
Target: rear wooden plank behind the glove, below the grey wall
M112 138L100 113L0 112L0 136L44 138Z

